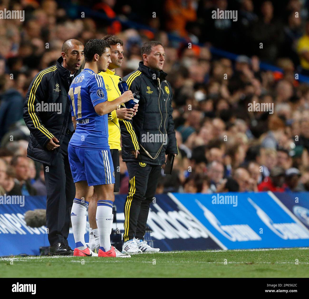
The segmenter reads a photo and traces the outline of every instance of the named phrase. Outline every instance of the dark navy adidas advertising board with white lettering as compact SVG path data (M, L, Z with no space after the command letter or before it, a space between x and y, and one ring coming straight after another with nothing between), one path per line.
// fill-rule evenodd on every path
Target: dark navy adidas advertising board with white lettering
M125 198L125 195L117 195L115 198L117 227L121 233L124 233ZM209 236L204 225L167 194L155 196L150 205L147 225L152 230L154 246L161 251L222 248Z

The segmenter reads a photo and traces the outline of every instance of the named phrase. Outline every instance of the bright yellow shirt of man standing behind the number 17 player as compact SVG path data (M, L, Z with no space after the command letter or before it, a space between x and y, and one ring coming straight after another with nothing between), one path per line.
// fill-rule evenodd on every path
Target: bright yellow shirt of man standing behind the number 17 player
M113 101L121 96L121 92L118 88L118 82L120 76L115 72L107 69L106 72L100 72L104 79L105 88L107 91L107 100ZM116 110L108 113L108 145L110 149L119 149L120 147L120 126L119 119L117 118Z

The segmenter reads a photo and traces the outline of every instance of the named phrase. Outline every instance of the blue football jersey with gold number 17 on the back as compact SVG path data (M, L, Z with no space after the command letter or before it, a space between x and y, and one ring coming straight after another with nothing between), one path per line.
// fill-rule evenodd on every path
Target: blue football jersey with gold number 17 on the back
M95 105L107 101L103 77L84 69L70 86L69 99L76 130L69 145L87 149L109 149L108 115L98 115Z

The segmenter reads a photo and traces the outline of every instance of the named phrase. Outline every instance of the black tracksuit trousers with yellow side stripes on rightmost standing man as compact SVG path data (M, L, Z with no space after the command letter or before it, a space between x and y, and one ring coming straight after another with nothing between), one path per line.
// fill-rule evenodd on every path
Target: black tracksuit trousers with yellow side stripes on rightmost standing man
M125 233L123 240L144 240L150 203L153 201L161 172L160 165L137 161L126 162L129 193L125 200Z

